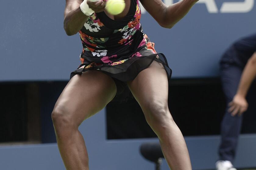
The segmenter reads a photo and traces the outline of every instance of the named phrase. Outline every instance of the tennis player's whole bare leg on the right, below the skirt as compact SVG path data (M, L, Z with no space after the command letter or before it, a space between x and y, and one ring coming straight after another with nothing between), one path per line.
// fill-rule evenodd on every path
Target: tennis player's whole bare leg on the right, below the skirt
M162 64L154 61L128 82L128 86L157 134L169 167L172 170L191 170L186 143L168 108L168 80Z

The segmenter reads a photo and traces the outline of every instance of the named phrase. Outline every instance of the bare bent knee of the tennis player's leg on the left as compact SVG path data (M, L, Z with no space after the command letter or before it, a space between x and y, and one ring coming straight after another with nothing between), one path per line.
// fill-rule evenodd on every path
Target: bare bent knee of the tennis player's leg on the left
M70 114L65 108L56 107L52 111L52 122L56 132L61 130L65 131L67 128L75 126L75 123L69 115Z

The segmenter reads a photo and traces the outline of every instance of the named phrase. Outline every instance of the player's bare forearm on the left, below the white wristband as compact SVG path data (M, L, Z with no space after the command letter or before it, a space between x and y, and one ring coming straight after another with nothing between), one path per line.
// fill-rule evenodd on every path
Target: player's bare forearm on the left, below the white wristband
M88 16L84 15L80 7L68 12L64 19L64 29L68 36L76 34L86 22Z

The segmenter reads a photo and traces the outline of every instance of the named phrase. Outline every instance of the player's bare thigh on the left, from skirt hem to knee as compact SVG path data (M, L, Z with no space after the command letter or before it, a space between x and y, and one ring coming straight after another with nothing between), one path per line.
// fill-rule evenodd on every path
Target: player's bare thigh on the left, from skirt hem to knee
M53 114L69 117L80 124L103 109L116 94L116 84L108 75L89 70L75 75L62 91Z

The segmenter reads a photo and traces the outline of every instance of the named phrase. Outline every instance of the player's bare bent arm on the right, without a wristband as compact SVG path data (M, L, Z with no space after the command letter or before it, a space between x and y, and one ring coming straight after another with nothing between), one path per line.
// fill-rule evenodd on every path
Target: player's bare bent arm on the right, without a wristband
M165 5L162 0L140 0L144 8L164 28L172 28L197 1L183 0L172 5Z

